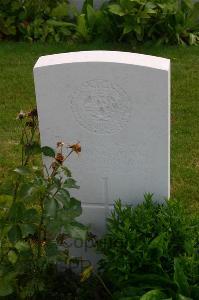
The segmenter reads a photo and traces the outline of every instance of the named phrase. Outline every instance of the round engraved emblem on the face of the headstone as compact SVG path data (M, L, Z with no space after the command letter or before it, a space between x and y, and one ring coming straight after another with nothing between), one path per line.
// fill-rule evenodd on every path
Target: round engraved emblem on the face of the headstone
M107 80L84 82L72 94L71 107L77 122L96 134L114 134L127 123L131 102L125 91Z

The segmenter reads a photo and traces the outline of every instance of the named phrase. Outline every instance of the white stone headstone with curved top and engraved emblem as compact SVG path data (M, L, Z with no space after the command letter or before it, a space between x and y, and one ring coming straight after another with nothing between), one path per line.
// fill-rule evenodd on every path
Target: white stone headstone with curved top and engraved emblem
M42 146L80 141L68 160L81 220L103 233L114 201L170 193L170 61L116 51L40 57L34 67Z

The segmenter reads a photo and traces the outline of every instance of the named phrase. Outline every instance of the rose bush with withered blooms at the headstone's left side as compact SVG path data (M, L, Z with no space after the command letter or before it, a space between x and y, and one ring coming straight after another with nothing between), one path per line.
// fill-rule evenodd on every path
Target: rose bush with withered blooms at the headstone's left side
M67 159L63 143L58 143L56 151L39 146L36 109L21 111L18 119L21 166L14 170L12 196L0 198L0 297L35 299L48 293L48 272L56 273L58 263L70 262L65 241L84 240L87 228L76 220L82 213L81 203L69 193L78 186L63 165ZM33 164L38 153L52 158L46 176Z

